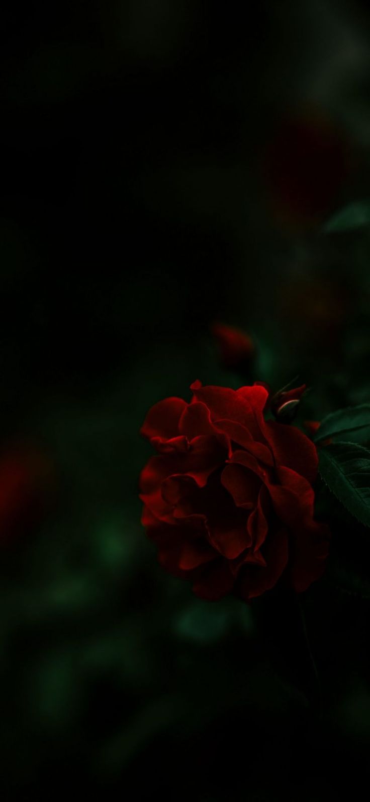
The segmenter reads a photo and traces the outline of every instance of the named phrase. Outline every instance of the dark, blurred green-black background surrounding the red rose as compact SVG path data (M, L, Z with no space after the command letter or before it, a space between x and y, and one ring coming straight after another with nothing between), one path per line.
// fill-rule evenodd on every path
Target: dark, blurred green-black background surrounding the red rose
M2 11L0 791L4 800L327 800L370 738L368 545L346 516L299 611L199 602L139 523L149 407L220 367L368 400L361 2Z

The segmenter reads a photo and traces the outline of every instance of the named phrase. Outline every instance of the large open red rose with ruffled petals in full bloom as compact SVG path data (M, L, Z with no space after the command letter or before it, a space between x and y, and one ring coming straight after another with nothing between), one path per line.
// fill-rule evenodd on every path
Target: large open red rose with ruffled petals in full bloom
M306 589L328 553L328 529L313 519L314 444L264 420L265 387L191 389L191 403L160 401L142 428L159 452L140 477L159 561L212 600L259 596L283 573Z

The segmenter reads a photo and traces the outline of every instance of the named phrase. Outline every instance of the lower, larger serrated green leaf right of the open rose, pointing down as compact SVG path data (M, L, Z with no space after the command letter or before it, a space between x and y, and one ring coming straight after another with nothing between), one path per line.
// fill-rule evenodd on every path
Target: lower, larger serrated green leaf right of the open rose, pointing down
M320 449L320 475L328 488L365 526L370 526L370 451L356 443Z

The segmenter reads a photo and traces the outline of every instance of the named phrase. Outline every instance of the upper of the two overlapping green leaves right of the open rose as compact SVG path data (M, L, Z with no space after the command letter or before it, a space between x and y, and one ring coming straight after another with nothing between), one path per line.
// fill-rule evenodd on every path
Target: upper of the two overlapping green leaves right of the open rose
M370 403L360 404L358 407L347 407L332 412L321 422L320 429L316 431L315 443L328 437L340 436L340 439L353 443L370 442Z

